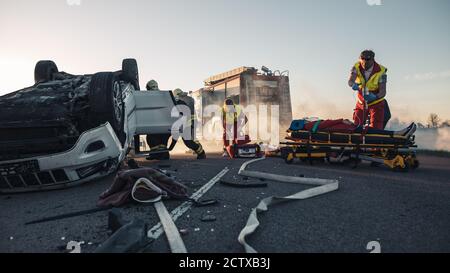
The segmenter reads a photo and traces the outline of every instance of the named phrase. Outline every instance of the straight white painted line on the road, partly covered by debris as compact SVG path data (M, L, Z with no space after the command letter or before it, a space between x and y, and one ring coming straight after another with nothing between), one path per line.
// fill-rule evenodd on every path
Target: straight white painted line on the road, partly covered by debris
M211 180L208 181L203 187L201 187L198 191L192 194L191 199L199 200L205 193L207 193L217 182L219 182L220 178L222 178L227 172L229 171L228 168L223 169L220 173L218 173L216 176L214 176ZM175 208L171 213L170 216L172 217L173 221L175 222L180 216L182 216L184 213L186 213L191 207L192 202L186 201L177 208ZM158 239L161 234L163 234L164 229L161 225L161 222L153 226L148 232L147 237L151 239Z

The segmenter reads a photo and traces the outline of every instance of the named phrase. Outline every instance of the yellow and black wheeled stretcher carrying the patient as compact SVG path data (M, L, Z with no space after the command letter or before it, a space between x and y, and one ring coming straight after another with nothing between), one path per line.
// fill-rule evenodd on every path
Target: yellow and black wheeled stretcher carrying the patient
M304 162L348 162L356 168L364 160L384 165L396 171L419 167L415 136L386 133L343 133L332 131L288 130L286 142L281 142L281 157L291 164L294 159Z

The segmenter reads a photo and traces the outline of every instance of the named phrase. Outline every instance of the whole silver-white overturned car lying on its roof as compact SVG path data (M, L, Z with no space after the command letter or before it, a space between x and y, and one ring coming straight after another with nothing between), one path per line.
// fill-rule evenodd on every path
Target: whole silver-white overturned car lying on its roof
M0 192L78 185L117 170L140 134L167 134L170 91L139 91L137 62L87 75L39 61L35 84L0 97Z

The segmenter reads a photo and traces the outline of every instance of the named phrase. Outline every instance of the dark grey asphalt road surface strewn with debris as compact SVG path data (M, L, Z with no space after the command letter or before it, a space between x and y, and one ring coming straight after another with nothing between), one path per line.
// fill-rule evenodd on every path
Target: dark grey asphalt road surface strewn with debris
M271 207L260 216L261 226L249 237L260 252L362 252L378 241L382 252L450 252L450 159L421 156L421 167L396 173L367 164L358 169L319 163L286 165L268 158L251 170L338 179L339 190L315 198ZM141 161L145 166L174 172L191 192L201 188L225 167L225 180L240 180L237 171L245 160L230 160L218 154L197 161L191 155L166 162ZM69 241L84 241L82 252L92 252L109 236L107 212L53 222L24 225L37 218L95 207L99 194L113 177L76 188L20 195L0 195L0 252L64 252ZM271 195L284 196L308 186L266 181L266 188L233 188L217 183L203 198L218 204L192 207L177 221L186 229L183 240L189 252L243 252L237 237L249 213ZM182 202L165 201L168 210ZM121 208L126 219L140 218L149 227L159 222L152 205ZM217 220L202 222L205 214ZM149 252L169 252L165 235L151 243Z

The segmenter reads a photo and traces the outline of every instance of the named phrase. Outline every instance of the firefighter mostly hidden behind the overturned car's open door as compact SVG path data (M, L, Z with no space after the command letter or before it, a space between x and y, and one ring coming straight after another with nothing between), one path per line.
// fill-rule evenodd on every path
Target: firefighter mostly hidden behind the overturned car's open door
M147 83L146 89L148 91L159 90L158 82L151 80ZM169 151L167 151L167 143L169 141L170 134L156 134L147 135L147 144L150 147L150 154L147 160L168 160L170 159ZM153 153L160 152L160 153Z

